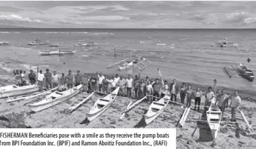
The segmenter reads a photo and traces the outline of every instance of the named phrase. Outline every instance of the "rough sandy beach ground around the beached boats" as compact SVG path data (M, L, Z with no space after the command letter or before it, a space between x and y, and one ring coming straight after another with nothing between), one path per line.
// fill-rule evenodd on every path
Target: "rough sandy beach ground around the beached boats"
M10 68L14 68L20 64L21 62L13 61L11 58L1 59L1 84L9 85L14 83L14 76L9 70ZM192 84L192 86L200 85ZM202 90L206 90L208 86L201 87L203 88ZM229 91L227 89L227 92L232 93L232 90ZM256 130L256 120L254 118L256 115L255 95L253 93L240 93L240 96L242 98L242 105L240 106L240 109L245 113L245 116L252 125L252 128ZM80 123L87 117L87 112L92 108L97 97L99 96L93 96L90 101L84 103L82 107L73 113L67 113L67 108L82 101L86 98L86 94L79 93L77 96L69 99L65 103L61 103L39 113L31 113L29 107L24 106L25 103L29 103L31 101L6 103L6 99L1 99L0 115L4 115L6 118L14 118L14 113L21 114L18 115L20 122L27 126L31 126L31 128L133 128L134 125L139 123L139 120L142 118L142 114L145 113L149 107L149 103L147 101L142 102L139 106L133 108L132 111L129 111L122 120L119 120L119 117L122 115L122 112L127 107L131 99L117 98L107 111L89 123L89 125L81 125ZM132 99L132 101L134 102L135 100ZM194 101L192 101L192 105L194 105ZM146 128L175 128L175 125L179 121L179 117L182 115L183 111L184 109L180 106L169 104L169 106L164 110L164 113L159 115L159 117L147 125ZM198 124L195 120L197 120L199 116L199 112L191 111L187 118L188 121L185 123L184 127L177 128L177 148L210 148L210 145L212 144L212 137L209 133L209 128L197 129L195 135L191 137L193 130ZM230 116L230 108L228 108L227 113L225 113L225 118L230 119ZM240 114L237 114L237 119L242 120ZM235 125L223 123L217 137L217 145L215 148L256 148L256 133L249 133L245 124L240 124L239 126L240 129L238 129L238 133L235 134L235 132L237 132L237 127ZM3 123L0 123L0 127L4 128Z

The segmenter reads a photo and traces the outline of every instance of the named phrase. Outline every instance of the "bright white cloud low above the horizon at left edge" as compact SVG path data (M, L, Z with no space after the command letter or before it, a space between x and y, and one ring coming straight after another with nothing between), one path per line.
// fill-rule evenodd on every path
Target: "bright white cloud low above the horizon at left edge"
M34 23L46 23L39 19L29 19L27 17L18 16L16 14L11 15L0 15L0 20L7 20L7 21L24 21L24 22L34 22Z

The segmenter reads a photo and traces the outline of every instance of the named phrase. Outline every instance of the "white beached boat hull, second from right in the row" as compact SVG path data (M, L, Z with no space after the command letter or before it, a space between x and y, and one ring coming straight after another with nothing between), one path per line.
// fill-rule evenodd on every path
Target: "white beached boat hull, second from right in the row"
M149 106L149 111L143 115L146 125L149 125L154 119L156 119L167 107L169 103L169 96L164 96L159 101L153 101Z

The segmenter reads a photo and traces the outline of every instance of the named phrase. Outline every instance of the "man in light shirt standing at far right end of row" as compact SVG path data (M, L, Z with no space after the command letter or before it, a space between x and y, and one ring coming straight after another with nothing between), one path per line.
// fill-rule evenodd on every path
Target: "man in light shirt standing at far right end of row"
M238 107L240 106L241 104L241 98L240 96L238 96L238 92L235 91L235 96L232 96L232 99L231 99L231 103L230 103L230 108L231 108L231 121L232 122L236 122L236 118L235 118L235 115L237 113L237 109Z

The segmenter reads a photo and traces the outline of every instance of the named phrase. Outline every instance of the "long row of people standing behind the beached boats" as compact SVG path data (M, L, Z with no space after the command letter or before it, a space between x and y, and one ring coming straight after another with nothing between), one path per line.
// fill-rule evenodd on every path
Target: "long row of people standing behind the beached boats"
M217 106L220 107L222 115L225 113L225 108L228 108L228 103L230 101L230 96L228 96L223 89L217 90L217 93L212 91L212 87L209 87L207 91L201 91L199 87L196 90L192 89L191 85L186 85L182 83L182 86L179 88L176 79L172 83L168 84L167 81L163 81L159 78L150 78L147 76L145 79L140 78L140 76L135 75L132 78L132 75L128 75L127 78L119 76L109 77L103 75L103 73L88 74L84 73L83 75L80 71L77 71L77 74L73 75L72 71L68 71L68 74L61 73L59 76L56 71L53 74L50 73L49 69L46 69L46 73L42 73L42 70L37 68L38 75L36 79L36 74L33 70L30 71L28 78L29 83L35 84L47 90L51 88L56 88L58 86L73 88L73 86L79 86L82 84L84 93L92 92L101 92L101 93L111 93L114 91L117 86L119 86L119 96L127 96L128 98L140 99L144 96L147 96L149 102L158 101L164 96L170 96L170 100L177 103L177 96L179 95L180 102L185 104L184 101L187 99L186 106L190 107L192 100L195 100L195 111L200 111L200 105L202 97L205 97L205 111L209 108L212 103L212 99L216 98ZM24 71L15 72L17 85L26 86L26 79ZM162 78L161 78L162 79ZM134 93L134 96L132 96ZM237 95L235 91L235 96L232 96L230 102L230 108L232 108L232 121L235 121L235 113L237 108L240 106L241 98Z

